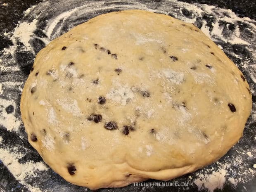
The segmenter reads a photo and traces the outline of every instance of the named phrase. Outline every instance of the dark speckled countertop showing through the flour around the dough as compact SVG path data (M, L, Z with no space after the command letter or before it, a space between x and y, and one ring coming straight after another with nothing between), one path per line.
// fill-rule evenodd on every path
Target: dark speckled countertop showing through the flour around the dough
M208 5L213 5L216 7L224 8L224 9L232 9L235 14L239 17L249 17L250 19L256 19L256 1L250 1L250 0L180 0L183 2L189 2L189 3L205 3ZM35 57L34 53L31 51L24 51L24 50L16 50L16 52L10 55L6 56L4 54L5 50L4 48L9 48L13 45L13 41L10 40L9 36L4 35L4 33L10 33L12 30L16 27L16 25L21 21L24 17L24 11L28 9L29 7L33 5L38 5L39 2L42 2L42 0L2 0L0 1L0 58L3 61L7 61L9 59L9 66L19 66L21 68L21 71L14 71L13 73L10 72L3 72L0 70L0 83L5 82L5 81L21 81L24 82L30 72L31 66L33 64L33 59ZM53 0L52 2L58 2L58 0ZM60 1L61 2L61 1ZM88 1L88 2L93 2L93 1ZM106 1L108 2L108 1ZM121 1L120 1L121 2ZM152 4L152 7L156 7L158 9L161 7L161 0L154 0L154 1L149 1L149 0L141 0L144 4ZM2 4L7 3L7 6L3 6ZM120 3L120 5L122 2ZM76 5L71 5L76 7ZM43 9L43 7L42 7ZM108 11L113 11L116 9L110 9ZM173 9L174 10L174 9ZM61 12L62 10L60 10ZM91 14L88 16L88 18L91 18L92 16L94 17L97 14L101 14L103 12L97 12ZM170 13L171 16L173 16L173 11ZM59 13L58 13L59 14ZM184 15L187 15L186 17L192 17L189 12L186 11L186 9L183 9L182 13ZM43 15L43 14L42 14ZM43 28L46 19L48 19L50 16L45 16L45 17L39 17L38 21L42 21L42 24L40 23L39 26L40 28ZM206 25L209 25L209 30L211 30L212 26L211 23L213 22L213 19L211 19L211 15L204 15L203 18L198 19L197 21L197 26L200 28L200 25L203 24L203 21L206 21ZM25 21L32 21L33 19L33 14L26 16L24 18ZM79 24L81 21L70 21L68 23L69 25L76 25ZM83 21L84 22L84 21ZM256 24L255 21L251 21L252 23ZM250 32L252 28L248 25L243 23L242 21L239 23L237 22L236 25L239 26L239 29L241 30L241 38L244 40L249 40L251 42L255 42L255 35ZM230 24L229 30L232 31L232 27L235 28L235 26L232 26ZM63 32L68 30L68 27L62 28ZM228 30L224 28L224 30ZM224 31L223 30L223 31ZM34 32L36 36L38 37L45 37L45 34L42 31L36 31ZM229 34L230 32L223 32L223 36ZM57 34L58 35L58 34ZM252 95L253 95L253 101L254 101L254 111L255 111L255 102L256 102L256 83L254 80L251 78L251 73L256 73L256 71L253 71L253 68L244 68L244 65L254 65L255 64L255 58L251 55L251 52L255 53L255 45L250 45L247 47L246 45L239 45L239 44L230 44L225 43L222 40L216 40L216 44L220 45L223 47L224 52L230 59L232 59L235 64L239 67L239 69L244 73L245 77L247 78L248 83L250 84L250 88L252 90ZM33 41L33 50L35 52L38 52L41 48L44 47L44 43L42 41ZM251 43L253 44L253 43ZM22 43L18 42L18 45L21 48L24 46ZM238 57L237 57L238 55ZM13 57L13 58L12 58ZM12 60L14 59L14 60ZM1 61L0 61L1 65ZM15 111L14 116L17 116L17 118L20 118L20 112L19 112L19 100L21 96L21 92L19 90L19 86L13 87L13 88L8 88L8 90L5 90L5 93L8 94L0 94L0 99L4 98L7 100L14 100L16 102L16 107L15 109L12 109L12 107L9 107L8 109L2 109L1 105L3 106L4 104L0 103L0 117L1 117L1 110L9 111L12 113ZM8 113L9 113L8 112ZM252 118L252 116L249 118L246 128L244 130L244 136L242 139L239 141L235 147L232 147L228 154L226 154L223 158L220 159L220 164L225 164L226 162L232 162L230 159L234 158L237 155L241 155L242 152L252 150L256 148L256 135L255 135L255 128L256 128L256 119ZM35 149L33 149L27 139L26 139L26 133L24 130L23 125L20 127L20 132L12 132L8 131L4 125L0 125L0 136L2 136L4 139L2 143L0 142L0 148L12 148L12 147L17 147L21 146L21 152L25 154L25 156L21 159L19 159L19 163L26 163L27 161L34 161L34 162L40 162L42 161L41 157L39 154L36 152ZM11 149L10 149L11 151ZM240 153L241 152L241 153ZM247 154L245 154L247 156ZM0 159L1 160L1 159ZM238 182L237 185L231 185L230 183L225 183L222 189L217 189L215 192L256 192L256 178L255 178L255 171L256 169L253 168L253 164L256 163L255 156L249 157L242 159L242 163L239 164L237 162L237 165L231 165L232 167L232 172L236 172L237 169L239 169L239 166L242 166L242 164L246 164L248 166L243 165L244 168L251 168L254 173L251 173L249 175L243 175L241 176L244 180L246 180L246 177L249 178L249 180L246 180L245 182ZM214 164L211 166L208 166L206 170L209 170L213 168L213 170L217 170L220 166ZM228 170L230 171L230 169ZM196 173L192 174L192 177L194 178L195 175L201 174L201 173L206 173L207 171L197 171ZM26 183L29 183L31 185L35 184L35 186L39 187L42 192L46 192L48 190L49 192L82 192L86 191L84 187L78 187L72 184L67 183L64 181L59 175L54 173L51 169L43 172L42 174L38 173L35 178L26 181ZM229 173L232 175L232 173ZM189 174L190 175L190 174ZM179 183L186 183L190 182L188 179L189 175L184 175L183 177L177 178L172 180L171 182L179 182ZM156 180L149 180L148 182L157 182ZM25 186L25 184L20 183L17 179L14 178L12 173L8 170L7 165L3 164L2 161L0 161L0 192L28 192L29 187ZM89 191L89 190L88 190ZM194 185L192 182L190 182L190 185L188 188L186 187L134 187L133 185L129 185L127 187L123 188L117 188L117 189L100 189L98 191L102 192L135 192L135 191L147 191L147 192L154 192L154 191L189 191L189 192L194 192L198 191L197 185ZM205 189L201 189L201 192L207 191Z

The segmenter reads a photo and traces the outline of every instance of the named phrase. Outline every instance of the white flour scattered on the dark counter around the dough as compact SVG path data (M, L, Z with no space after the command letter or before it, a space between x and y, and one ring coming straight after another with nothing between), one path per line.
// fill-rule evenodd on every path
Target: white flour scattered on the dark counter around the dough
M59 2L59 4L56 4L56 2ZM103 1L62 0L56 2L45 0L27 9L24 12L24 19L19 21L17 27L14 28L13 31L4 31L3 33L6 38L12 41L13 45L0 51L0 74L8 73L10 76L7 76L9 80L1 79L0 77L0 125L8 132L17 134L24 140L25 137L21 135L20 130L22 125L21 118L17 115L20 99L17 95L22 91L26 76L20 77L19 75L22 73L23 65L20 64L20 60L17 59L17 52L25 52L24 55L30 53L32 57L35 57L34 45L31 43L32 40L41 40L47 45L50 43L50 40L62 35L72 27L98 14L109 11L145 9L152 12L171 14L177 19L194 24L201 19L201 30L207 36L215 41L215 43L230 56L237 59L241 58L241 64L239 64L239 66L244 69L244 71L247 71L246 75L251 79L251 82L249 82L251 92L253 94L255 92L256 64L252 65L250 61L256 60L254 45L256 21L247 17L237 17L230 9L220 9L209 5L188 4L176 0L164 0L159 3L159 5L157 2L152 2L152 6L149 5L149 3L140 1L123 1L127 2L123 4L118 3L119 1L108 1L108 3L104 3ZM192 12L189 17L183 14L183 8ZM209 27L209 22L203 19L205 14L210 18L214 17L211 23L212 29ZM44 17L45 15L47 15L46 18ZM240 28L239 22L242 22L243 25L247 25L244 28L245 32ZM234 29L229 31L230 34L228 36L225 36L223 31L227 30L230 25L233 25ZM36 31L40 31L43 35L35 34ZM253 38L246 38L247 34L253 36ZM20 43L23 45L21 46ZM247 48L252 54L251 58L239 55L238 52L235 52L235 48L233 50L231 49L232 46L236 45ZM16 92L10 95L10 92L13 90ZM5 109L9 105L14 106L14 111L7 114ZM249 124L256 121L255 108L256 106L253 108L252 119ZM3 127L0 129L4 129ZM247 127L247 129L248 128L249 127ZM0 135L0 159L14 175L14 178L26 186L31 192L45 192L46 190L43 191L38 188L38 186L41 186L40 183L31 184L26 181L28 177L38 178L39 173L45 174L48 167L45 166L43 161L37 163L33 161L28 161L24 164L19 163L19 159L21 159L24 154L19 152L19 148L17 148L18 144L14 144L16 148L14 147L14 149L11 150L5 147L3 145L4 143L5 137ZM235 187L238 183L246 183L250 178L256 177L255 164L248 165L246 163L248 158L252 159L256 156L256 150L252 147L249 149L233 147L232 150L236 153L234 156L225 156L217 163L192 173L187 179L187 181L191 183L190 185L196 185L199 189L204 188L209 192L213 192L215 189L221 189L225 183L229 183ZM151 154L150 150L147 152L148 155ZM232 173L232 170L236 171ZM58 183L58 185L60 184ZM84 190L86 191L87 189ZM50 189L47 189L47 191L55 192ZM185 190L177 188L177 191ZM66 190L63 189L63 192L66 192Z

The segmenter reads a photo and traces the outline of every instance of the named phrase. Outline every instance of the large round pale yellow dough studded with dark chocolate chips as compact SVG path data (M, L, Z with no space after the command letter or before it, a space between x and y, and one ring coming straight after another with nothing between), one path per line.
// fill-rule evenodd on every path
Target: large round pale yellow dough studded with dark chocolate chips
M142 10L102 14L53 40L21 97L30 144L90 189L213 163L242 136L251 106L242 72L204 33ZM109 121L118 129L104 128ZM128 135L123 126L132 126Z

